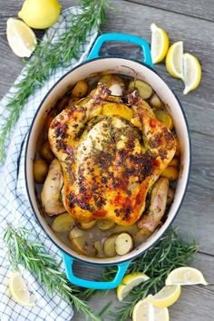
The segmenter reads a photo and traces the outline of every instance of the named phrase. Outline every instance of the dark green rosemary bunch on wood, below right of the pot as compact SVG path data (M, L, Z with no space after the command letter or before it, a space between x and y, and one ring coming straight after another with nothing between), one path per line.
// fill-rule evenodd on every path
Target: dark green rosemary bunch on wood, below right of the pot
M112 320L126 321L131 316L136 303L149 294L157 293L161 287L164 287L170 271L187 265L197 250L198 246L195 242L191 245L185 243L176 231L171 229L160 238L155 246L148 249L141 257L134 259L127 273L143 272L150 279L131 290L129 297L125 298L122 305L117 307L116 312L111 314ZM115 267L106 268L103 271L103 279L112 279L116 270ZM88 297L93 293L88 290Z

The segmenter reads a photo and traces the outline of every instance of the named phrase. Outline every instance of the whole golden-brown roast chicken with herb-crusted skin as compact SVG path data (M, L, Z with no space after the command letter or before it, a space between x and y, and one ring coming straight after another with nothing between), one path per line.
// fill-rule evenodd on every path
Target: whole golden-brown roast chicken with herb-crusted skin
M65 209L120 225L141 217L148 190L175 153L172 133L137 91L125 105L103 83L54 118L49 141L63 168Z

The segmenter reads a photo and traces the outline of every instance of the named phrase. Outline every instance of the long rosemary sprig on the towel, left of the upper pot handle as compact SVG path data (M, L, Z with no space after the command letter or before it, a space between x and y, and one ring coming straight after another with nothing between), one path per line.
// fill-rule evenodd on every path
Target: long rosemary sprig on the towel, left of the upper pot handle
M71 16L71 26L57 42L52 43L52 38L38 42L33 59L26 64L23 79L15 84L15 94L6 104L8 115L5 125L0 129L0 163L5 160L6 139L9 138L20 112L24 110L28 97L43 86L44 81L57 67L67 66L72 58L78 57L87 36L94 28L99 29L104 21L107 3L105 0L82 0L82 13Z

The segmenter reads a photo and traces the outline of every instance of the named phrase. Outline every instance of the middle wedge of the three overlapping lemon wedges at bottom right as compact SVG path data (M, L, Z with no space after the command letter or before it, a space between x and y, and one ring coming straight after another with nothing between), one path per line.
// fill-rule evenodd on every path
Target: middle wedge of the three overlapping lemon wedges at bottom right
M172 306L180 297L180 286L163 287L155 296L148 296L147 301L154 306L168 307Z

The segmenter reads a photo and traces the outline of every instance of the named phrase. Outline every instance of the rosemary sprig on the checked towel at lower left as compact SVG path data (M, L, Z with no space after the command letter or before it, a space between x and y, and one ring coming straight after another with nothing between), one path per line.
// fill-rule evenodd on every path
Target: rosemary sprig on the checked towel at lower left
M5 232L5 243L8 248L8 258L15 269L19 265L24 266L34 276L38 277L39 283L46 287L50 295L57 294L66 302L72 304L78 312L99 321L92 308L83 299L84 291L69 283L67 277L60 271L60 263L56 263L53 256L47 253L41 243L30 240L30 233L26 229L14 229L8 225Z

